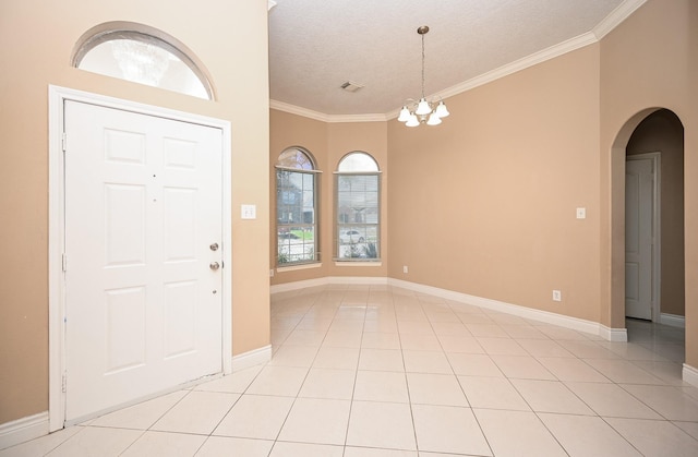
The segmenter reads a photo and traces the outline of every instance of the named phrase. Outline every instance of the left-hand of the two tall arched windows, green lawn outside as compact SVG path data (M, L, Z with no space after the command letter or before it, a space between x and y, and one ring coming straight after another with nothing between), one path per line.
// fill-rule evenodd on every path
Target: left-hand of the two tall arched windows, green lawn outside
M301 147L285 149L276 161L277 266L320 261L318 173L313 157Z

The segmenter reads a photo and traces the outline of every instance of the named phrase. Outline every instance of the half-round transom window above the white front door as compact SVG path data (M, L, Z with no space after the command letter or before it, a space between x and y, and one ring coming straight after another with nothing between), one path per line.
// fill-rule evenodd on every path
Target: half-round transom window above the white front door
M201 62L173 37L142 24L111 22L86 32L72 64L81 70L214 99Z

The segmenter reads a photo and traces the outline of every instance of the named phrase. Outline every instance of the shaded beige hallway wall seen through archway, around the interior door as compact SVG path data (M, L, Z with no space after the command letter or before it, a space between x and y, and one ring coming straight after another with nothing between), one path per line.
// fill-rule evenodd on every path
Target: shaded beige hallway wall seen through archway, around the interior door
M661 153L660 305L684 315L684 128L673 112L648 116L628 141L627 155Z

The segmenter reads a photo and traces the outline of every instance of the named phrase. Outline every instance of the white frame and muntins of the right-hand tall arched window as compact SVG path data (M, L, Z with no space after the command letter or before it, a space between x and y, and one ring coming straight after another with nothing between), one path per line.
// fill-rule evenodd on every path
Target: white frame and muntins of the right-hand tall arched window
M371 160L373 161L373 164L375 165L375 170L360 170L360 171L342 171L341 170L341 165L342 163L348 159L351 155L353 154L362 154L365 155L366 157L371 158ZM381 263L382 262L382 257L381 257L381 246L382 246L382 241L381 241L381 228L382 228L382 204L381 204L381 200L382 200L382 195L383 195L383 191L382 191L382 187L383 187L383 179L382 179L382 171L381 168L378 167L378 163L377 160L369 153L363 152L363 151L354 151L351 152L347 155L345 155L340 160L339 164L337 165L337 171L334 172L335 175L335 195L334 195L334 203L335 203L335 218L334 218L334 226L335 226L335 230L334 230L334 261L338 262L338 263L347 263L347 264L351 264L351 263ZM341 177L375 177L376 179L376 221L375 223L368 223L368 221L363 221L363 223L348 223L348 221L341 221L340 217L340 191L339 191L339 180ZM349 230L356 229L356 228L362 228L363 229L363 237L361 237L361 231L359 232L359 240L357 240L356 242L353 241L353 237L354 234L351 233L348 237L349 242L342 242L342 233L345 233L345 239L347 238L346 233L348 233ZM371 232L371 228L374 228L375 230L375 241L369 241L369 237L370 237L370 232ZM361 241L361 239L363 239L363 241ZM354 256L354 255L350 255L350 256L342 256L342 251L346 251L346 245L349 245L349 250L350 252L358 252L354 251L354 249L357 250L362 250L363 253L359 252L359 255ZM371 244L373 244L373 252L375 253L375 256L372 256L372 249L371 249ZM363 255L362 255L363 254Z

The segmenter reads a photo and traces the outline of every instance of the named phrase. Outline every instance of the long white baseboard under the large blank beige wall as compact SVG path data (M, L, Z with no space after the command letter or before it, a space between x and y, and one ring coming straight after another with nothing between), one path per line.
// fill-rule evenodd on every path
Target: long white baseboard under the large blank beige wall
M532 308L520 306L518 304L485 299L482 297L469 296L467 293L455 292L453 290L440 289L436 287L424 286L416 282L408 282L400 279L389 278L388 284L392 286L414 290L417 292L429 293L431 296L445 298L447 300L453 300L460 303L474 304L476 306L485 308L488 310L501 311L503 313L513 314L524 318L530 318L533 321L558 325L561 327L570 328L578 332L599 335L602 338L612 341L627 341L627 333L625 328L609 328L599 323L586 321L583 318L570 317L563 314L551 313L547 311L534 310Z

